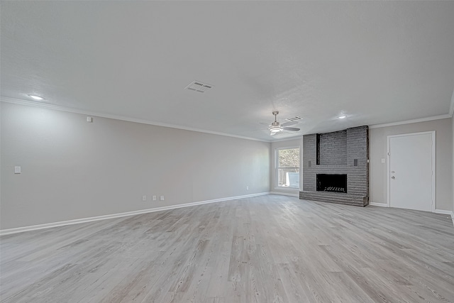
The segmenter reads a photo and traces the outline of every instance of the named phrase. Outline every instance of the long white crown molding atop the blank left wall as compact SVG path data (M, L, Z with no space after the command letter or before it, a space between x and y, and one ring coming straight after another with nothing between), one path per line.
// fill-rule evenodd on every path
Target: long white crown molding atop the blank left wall
M206 130L200 129L200 128L178 126L178 125L175 125L175 124L160 123L160 122L155 122L155 121L150 121L150 120L145 120L145 119L135 119L135 118L127 117L127 116L117 116L117 115L111 115L111 114L103 114L103 113L99 113L99 112L96 112L96 111L87 111L87 110L84 110L84 109L73 109L71 107L66 107L66 106L60 106L60 105L55 105L55 104L46 104L46 103L42 103L42 102L35 102L35 101L28 101L28 100L21 100L21 99L15 99L15 98L10 98L10 97L3 97L2 96L2 97L0 97L0 101L4 102L4 103L11 103L11 104L24 105L24 106L39 107L39 108L42 108L42 109L52 109L54 111L66 111L68 113L73 113L73 114L82 114L82 115L87 115L87 116L96 116L96 117L107 118L107 119L115 119L115 120L128 121L128 122L134 122L134 123L148 124L148 125L153 125L153 126L177 128L177 129L182 129L184 131L196 131L197 133L209 133L211 135L226 136L226 137L239 138L239 139L250 140L250 141L260 141L260 142L266 142L266 143L270 143L271 142L271 141L268 141L268 140L260 140L260 139L256 139L256 138L245 137L245 136L232 135L230 133L220 133L220 132L217 132L217 131L206 131Z

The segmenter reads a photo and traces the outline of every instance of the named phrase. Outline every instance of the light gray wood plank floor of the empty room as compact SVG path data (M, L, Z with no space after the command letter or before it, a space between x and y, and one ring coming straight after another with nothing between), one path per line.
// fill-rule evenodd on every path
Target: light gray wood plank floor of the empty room
M1 302L453 302L447 215L268 195L0 238Z

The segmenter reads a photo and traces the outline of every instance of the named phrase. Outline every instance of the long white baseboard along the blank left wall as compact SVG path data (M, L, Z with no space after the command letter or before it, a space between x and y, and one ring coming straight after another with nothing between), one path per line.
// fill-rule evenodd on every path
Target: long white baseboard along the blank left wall
M196 206L196 205L201 205L201 204L209 204L209 203L236 200L236 199L243 199L243 198L249 198L249 197L258 197L258 196L264 196L265 194L270 194L270 192L260 192L258 194L245 194L243 196L226 197L226 198L221 198L221 199L212 199L212 200L205 200L205 201L199 201L199 202L190 202L190 203L185 203L185 204L162 206L162 207L156 207L154 209L140 209L138 211L127 211L127 212L123 212L123 213L119 213L119 214L108 214L108 215L104 215L104 216L92 216L92 217L89 217L89 218L74 219L74 220L67 220L67 221L60 221L60 222L52 222L52 223L38 224L38 225L32 225L32 226L23 226L23 227L17 227L17 228L1 229L0 230L0 236L11 235L13 233L22 233L23 231L36 231L38 229L43 229L43 228L51 228L51 227L72 225L72 224L79 224L79 223L87 223L87 222L106 220L106 219L115 219L115 218L120 218L122 216L134 216L134 215L137 215L137 214L147 214L147 213L155 212L155 211L165 211L165 210L170 210L170 209L179 209L179 208L182 208L182 207Z

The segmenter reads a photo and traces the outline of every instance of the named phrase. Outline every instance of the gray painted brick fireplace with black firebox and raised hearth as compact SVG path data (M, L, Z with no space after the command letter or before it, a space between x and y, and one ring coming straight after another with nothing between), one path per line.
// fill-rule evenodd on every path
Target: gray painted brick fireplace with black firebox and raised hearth
M303 136L299 199L369 204L369 127Z

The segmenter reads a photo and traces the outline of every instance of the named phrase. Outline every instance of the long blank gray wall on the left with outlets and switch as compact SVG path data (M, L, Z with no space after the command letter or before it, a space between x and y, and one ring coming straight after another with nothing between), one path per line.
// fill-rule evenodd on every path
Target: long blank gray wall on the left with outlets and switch
M270 143L86 117L1 103L1 229L270 190Z

